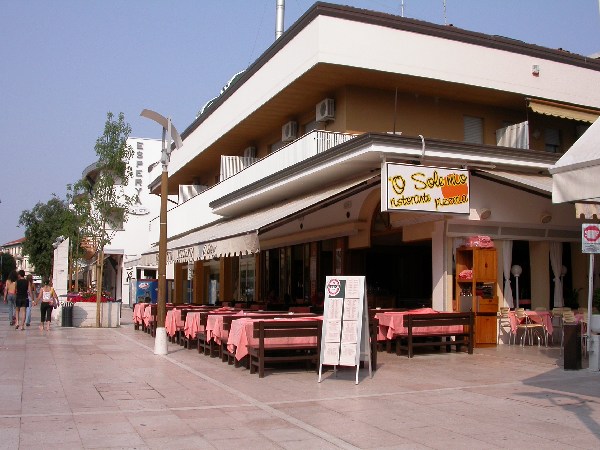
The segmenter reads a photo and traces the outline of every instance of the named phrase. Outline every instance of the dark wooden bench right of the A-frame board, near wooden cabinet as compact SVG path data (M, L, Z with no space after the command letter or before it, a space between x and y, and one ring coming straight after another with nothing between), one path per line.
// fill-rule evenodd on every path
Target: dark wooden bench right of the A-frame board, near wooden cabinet
M462 345L467 346L467 351L473 354L473 334L475 328L475 314L473 312L464 313L435 313L435 314L406 314L403 317L403 325L407 328L407 334L396 337L396 354L400 355L401 350L406 350L408 357L412 358L415 347L433 346L446 347L446 351L451 351L452 345L456 346L456 351L460 350ZM432 331L431 333L421 333L415 335L414 328L442 327L442 326L462 326L462 332L458 331ZM453 341L448 340L454 337ZM426 338L417 340L415 338ZM434 339L431 341L430 339ZM406 341L406 344L403 342Z

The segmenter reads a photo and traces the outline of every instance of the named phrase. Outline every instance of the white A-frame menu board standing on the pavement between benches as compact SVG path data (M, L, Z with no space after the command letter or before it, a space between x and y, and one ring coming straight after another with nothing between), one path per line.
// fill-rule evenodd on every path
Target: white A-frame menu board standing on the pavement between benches
M364 276L328 276L325 281L325 304L319 361L319 383L323 365L356 366L356 384L360 362L369 364L371 371L371 345L369 343L369 308Z

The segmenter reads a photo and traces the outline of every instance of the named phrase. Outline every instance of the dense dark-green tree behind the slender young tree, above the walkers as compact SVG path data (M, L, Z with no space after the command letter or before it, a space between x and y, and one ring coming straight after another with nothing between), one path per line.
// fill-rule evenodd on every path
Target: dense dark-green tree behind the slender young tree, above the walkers
M66 203L54 194L48 203L38 202L31 211L25 210L19 216L19 225L25 227L23 254L29 256L37 275L51 276L52 244L58 236L69 235L70 216Z

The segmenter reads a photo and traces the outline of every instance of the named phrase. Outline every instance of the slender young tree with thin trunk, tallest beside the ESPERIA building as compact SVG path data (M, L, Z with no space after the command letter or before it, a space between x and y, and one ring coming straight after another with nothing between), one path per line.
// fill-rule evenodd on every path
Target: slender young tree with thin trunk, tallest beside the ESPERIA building
M131 127L123 113L118 118L106 114L104 134L96 140L98 160L93 176L69 186L69 198L76 217L80 219L80 236L96 255L96 326L100 327L104 247L127 221L134 196L125 194L124 187L133 176L129 161L133 148L127 144Z

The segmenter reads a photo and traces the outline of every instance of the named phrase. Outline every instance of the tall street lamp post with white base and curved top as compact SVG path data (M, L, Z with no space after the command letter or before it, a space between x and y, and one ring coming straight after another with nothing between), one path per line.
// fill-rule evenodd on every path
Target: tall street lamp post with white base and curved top
M154 339L154 354L167 354L167 330L165 317L167 314L167 198L169 195L169 159L171 158L171 138L175 148L183 144L181 136L171 123L171 118L163 117L155 111L144 109L140 116L162 126L162 174L160 178L160 237L158 240L158 302L156 305L156 337Z

